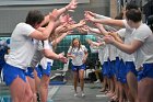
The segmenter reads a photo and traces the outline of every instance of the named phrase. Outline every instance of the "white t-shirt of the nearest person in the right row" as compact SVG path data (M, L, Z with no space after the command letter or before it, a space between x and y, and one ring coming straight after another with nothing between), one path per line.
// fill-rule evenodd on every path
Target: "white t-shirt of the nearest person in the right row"
M133 32L133 39L140 41L143 45L134 53L136 64L153 64L153 33L146 24L141 24Z

